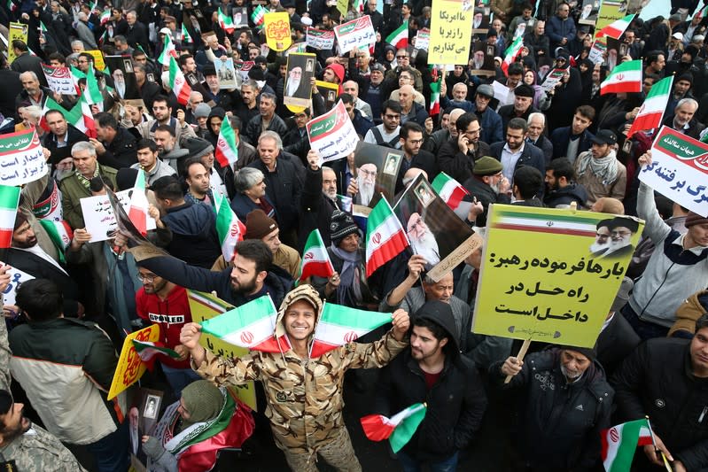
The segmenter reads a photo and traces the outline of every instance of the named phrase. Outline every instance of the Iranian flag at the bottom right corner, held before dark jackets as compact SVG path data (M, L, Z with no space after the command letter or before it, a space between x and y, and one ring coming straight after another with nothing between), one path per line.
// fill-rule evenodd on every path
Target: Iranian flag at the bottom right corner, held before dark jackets
M603 466L607 472L626 472L632 467L638 445L650 445L651 429L646 418L624 422L601 433Z

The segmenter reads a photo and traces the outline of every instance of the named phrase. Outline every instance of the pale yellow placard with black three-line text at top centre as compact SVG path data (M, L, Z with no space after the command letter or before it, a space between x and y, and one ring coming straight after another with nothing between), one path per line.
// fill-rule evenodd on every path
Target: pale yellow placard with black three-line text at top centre
M432 3L428 64L467 64L470 58L472 10L468 2Z

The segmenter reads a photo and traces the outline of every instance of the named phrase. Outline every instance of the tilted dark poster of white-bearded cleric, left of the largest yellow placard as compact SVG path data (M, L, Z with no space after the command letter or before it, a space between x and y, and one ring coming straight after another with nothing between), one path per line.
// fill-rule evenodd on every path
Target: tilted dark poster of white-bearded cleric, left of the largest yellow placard
M423 175L408 185L393 208L411 249L425 258L427 275L438 281L481 244L469 226L432 190Z

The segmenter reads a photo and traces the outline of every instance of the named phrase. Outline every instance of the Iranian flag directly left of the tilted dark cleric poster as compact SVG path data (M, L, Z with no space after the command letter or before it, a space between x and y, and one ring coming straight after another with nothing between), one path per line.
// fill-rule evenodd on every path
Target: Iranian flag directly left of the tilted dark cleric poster
M366 276L406 249L408 237L393 214L391 205L381 198L369 215L366 233Z

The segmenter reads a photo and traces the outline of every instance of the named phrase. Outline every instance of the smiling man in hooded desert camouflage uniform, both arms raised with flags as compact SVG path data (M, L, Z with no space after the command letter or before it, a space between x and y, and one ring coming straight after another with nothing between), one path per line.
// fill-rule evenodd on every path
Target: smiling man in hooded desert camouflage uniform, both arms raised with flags
M217 357L198 344L201 327L196 323L184 325L180 342L190 349L192 368L216 385L263 383L266 416L292 470L316 472L319 453L338 470L358 472L362 467L342 416L344 374L348 368L383 367L401 352L408 345L404 339L408 313L393 313L393 329L375 343L349 343L310 359L312 334L322 307L310 285L285 296L275 333L282 352L250 352L233 360Z

